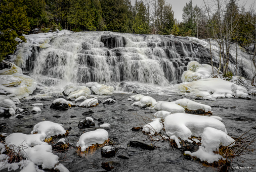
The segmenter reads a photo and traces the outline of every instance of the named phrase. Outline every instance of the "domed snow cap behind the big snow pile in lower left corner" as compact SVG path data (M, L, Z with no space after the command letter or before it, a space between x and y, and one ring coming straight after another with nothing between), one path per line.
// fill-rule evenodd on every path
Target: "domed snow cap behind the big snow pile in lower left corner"
M51 136L64 135L66 130L61 124L53 123L51 121L43 121L34 126L31 134L36 132L39 134L45 134L46 138L49 138Z

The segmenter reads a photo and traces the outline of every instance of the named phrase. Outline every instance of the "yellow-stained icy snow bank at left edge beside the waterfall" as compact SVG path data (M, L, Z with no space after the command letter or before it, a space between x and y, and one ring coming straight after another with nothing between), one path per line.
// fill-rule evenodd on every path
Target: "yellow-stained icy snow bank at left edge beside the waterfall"
M22 70L16 65L7 61L3 62L11 65L11 68L0 70L0 92L18 99L32 94L37 86L36 81L23 75Z

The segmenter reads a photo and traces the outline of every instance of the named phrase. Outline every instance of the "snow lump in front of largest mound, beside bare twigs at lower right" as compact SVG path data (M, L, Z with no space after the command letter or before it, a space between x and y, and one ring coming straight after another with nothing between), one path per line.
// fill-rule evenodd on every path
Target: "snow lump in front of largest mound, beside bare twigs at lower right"
M228 136L225 132L215 128L206 127L202 133L202 146L199 146L199 150L193 153L190 151L185 151L185 153L191 156L196 156L201 161L212 163L223 158L221 155L215 154L213 151L218 151L220 146L228 146L233 142L235 142L235 140ZM233 145L234 143L230 146Z

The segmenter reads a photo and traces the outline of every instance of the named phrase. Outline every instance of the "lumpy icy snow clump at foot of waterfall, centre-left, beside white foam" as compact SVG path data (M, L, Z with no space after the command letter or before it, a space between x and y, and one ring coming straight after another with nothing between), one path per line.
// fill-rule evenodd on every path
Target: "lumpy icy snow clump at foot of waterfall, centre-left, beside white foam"
M88 82L86 83L87 87L90 87L92 91L97 95L106 95L106 94L112 94L114 92L114 87L99 84L97 82Z

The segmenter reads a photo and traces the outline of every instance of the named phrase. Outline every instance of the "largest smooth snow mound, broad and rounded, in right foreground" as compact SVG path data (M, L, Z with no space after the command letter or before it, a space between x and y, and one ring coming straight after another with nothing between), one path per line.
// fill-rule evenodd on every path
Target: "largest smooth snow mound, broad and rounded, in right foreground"
M188 140L191 136L201 137L206 127L215 128L227 133L225 125L211 117L198 116L188 113L170 114L164 119L164 127L166 134L170 136L180 137L182 140ZM191 140L188 140L191 142ZM176 142L177 143L177 142ZM180 147L180 143L177 143Z

